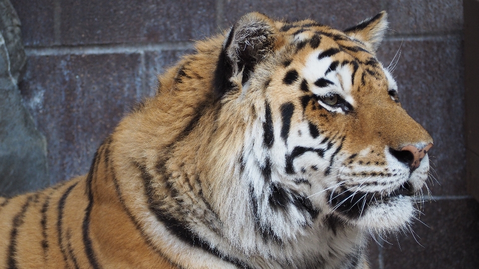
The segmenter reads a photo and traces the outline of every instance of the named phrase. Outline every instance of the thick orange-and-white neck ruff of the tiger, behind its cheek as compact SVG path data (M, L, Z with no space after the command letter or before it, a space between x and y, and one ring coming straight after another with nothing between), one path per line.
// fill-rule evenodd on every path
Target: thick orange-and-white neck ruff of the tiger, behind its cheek
M278 213L261 196L267 179L257 167L265 159L257 148L247 147L262 139L262 132L246 137L255 134L246 130L260 129L264 103L238 106L243 111L231 118L225 112L232 108L211 101L215 66L209 57L220 53L218 43L200 43L200 53L163 76L158 96L113 134L118 152L112 161L121 193L129 197L124 198L127 210L159 252L189 254L169 257L182 266L337 268L364 263L366 239L359 229L327 212L301 212L310 210L307 206ZM191 71L182 76L185 69L196 70L195 80L182 83L191 76ZM249 110L257 110L253 113L259 117L251 117Z

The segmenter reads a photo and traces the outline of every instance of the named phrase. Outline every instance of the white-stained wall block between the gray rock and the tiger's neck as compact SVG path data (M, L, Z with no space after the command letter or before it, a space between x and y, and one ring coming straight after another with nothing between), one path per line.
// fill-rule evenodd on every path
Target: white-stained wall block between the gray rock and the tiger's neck
M20 90L48 143L51 182L88 172L93 155L146 95L141 55L31 56Z

